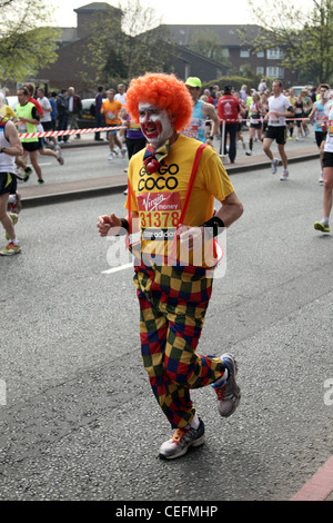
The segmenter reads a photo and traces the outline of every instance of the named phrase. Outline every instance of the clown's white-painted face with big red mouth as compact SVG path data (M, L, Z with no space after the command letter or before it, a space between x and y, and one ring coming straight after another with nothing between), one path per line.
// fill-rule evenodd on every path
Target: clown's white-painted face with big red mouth
M139 121L147 140L155 148L164 144L174 132L168 112L151 103L139 103Z

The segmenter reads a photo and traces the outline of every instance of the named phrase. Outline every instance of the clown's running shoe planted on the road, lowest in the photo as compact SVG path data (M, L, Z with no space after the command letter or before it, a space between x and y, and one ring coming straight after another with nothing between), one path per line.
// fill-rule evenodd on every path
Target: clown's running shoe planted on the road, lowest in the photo
M190 446L202 445L204 441L204 423L200 420L198 430L191 426L178 428L172 438L161 445L159 456L163 460L174 460L175 457L183 456Z

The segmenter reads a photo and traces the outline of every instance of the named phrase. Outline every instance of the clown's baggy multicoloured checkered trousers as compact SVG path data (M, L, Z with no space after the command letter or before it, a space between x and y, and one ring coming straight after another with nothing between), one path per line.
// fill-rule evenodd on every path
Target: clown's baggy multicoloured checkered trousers
M172 427L186 426L195 408L190 389L224 373L221 359L195 353L212 293L202 268L140 267L134 275L140 303L143 365Z

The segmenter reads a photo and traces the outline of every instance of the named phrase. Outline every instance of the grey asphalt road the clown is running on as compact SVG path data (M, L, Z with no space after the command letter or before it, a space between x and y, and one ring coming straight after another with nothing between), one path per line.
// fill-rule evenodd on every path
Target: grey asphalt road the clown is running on
M193 392L206 444L173 462L157 458L171 431L141 365L132 269L104 273L95 228L124 196L22 210L23 253L0 259L0 500L290 500L331 457L333 235L313 229L319 161L290 174L232 177L244 215L200 352L238 357L242 403L222 420L210 388Z

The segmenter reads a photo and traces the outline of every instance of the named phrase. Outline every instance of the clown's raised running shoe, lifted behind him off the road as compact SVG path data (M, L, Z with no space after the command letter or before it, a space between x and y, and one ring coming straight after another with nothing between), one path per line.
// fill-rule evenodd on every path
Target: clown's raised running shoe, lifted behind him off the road
M241 389L235 382L238 374L238 363L231 354L222 354L220 357L228 369L228 378L222 385L221 379L212 384L212 388L218 396L218 409L221 416L231 416L238 408L241 401Z

